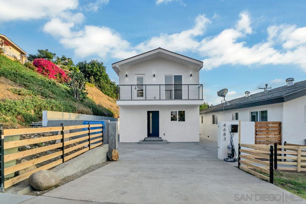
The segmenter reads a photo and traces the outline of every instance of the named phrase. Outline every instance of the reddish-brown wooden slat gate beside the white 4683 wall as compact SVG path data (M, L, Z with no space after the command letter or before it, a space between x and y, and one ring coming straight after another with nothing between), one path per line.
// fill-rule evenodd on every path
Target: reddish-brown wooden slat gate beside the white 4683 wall
M282 122L255 122L255 144L282 144Z

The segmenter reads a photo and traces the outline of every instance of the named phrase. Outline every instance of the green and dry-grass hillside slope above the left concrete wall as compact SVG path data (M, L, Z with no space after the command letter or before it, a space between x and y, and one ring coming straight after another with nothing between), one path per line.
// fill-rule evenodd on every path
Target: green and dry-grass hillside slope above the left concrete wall
M39 121L43 110L109 117L117 115L116 109L106 108L102 100L96 104L89 95L84 101L77 101L64 84L3 55L0 55L0 88L0 123L6 126L24 126ZM110 104L107 106L111 107Z

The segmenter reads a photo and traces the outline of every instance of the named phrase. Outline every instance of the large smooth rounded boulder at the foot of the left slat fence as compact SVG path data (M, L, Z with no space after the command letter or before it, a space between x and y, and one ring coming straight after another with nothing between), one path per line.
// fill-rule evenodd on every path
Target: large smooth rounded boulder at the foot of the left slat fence
M30 185L37 190L46 190L59 183L59 178L53 171L39 170L29 177Z

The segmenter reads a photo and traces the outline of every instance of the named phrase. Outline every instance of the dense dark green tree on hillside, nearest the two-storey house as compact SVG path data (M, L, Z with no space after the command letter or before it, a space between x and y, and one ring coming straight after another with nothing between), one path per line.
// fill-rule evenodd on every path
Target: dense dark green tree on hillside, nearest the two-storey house
M112 98L116 97L116 83L110 80L103 62L98 60L82 61L77 63L76 66L79 67L85 78L90 83L94 83L104 94Z

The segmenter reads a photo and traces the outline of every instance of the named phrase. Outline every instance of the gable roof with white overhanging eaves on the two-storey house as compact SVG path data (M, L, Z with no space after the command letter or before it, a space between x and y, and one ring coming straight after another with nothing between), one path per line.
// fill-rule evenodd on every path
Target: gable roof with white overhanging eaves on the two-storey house
M186 65L188 64L190 67L197 69L197 71L200 71L200 69L202 69L203 67L203 62L200 60L196 60L191 57L187 57L185 55L171 52L169 50L165 50L159 47L157 49L150 50L142 54L138 54L133 57L129 57L127 59L115 62L112 64L112 68L119 75L119 72L121 72L121 69L131 66L133 64L137 64L143 61L153 59L155 57L164 57L164 58L176 61L178 63L183 63Z

